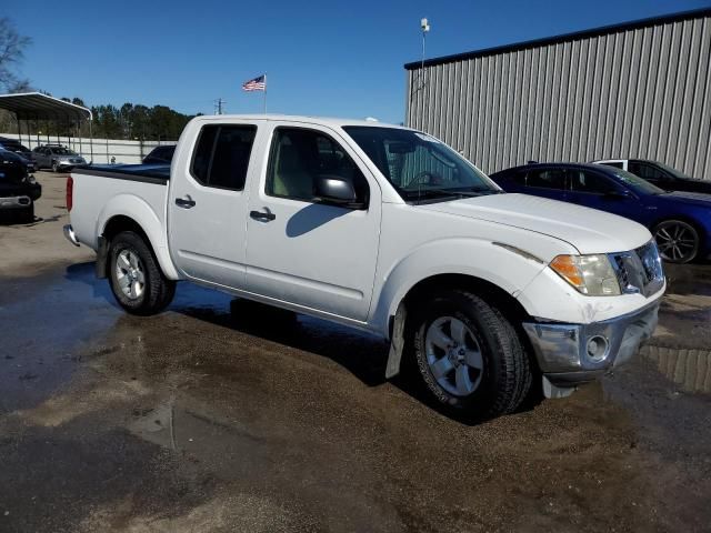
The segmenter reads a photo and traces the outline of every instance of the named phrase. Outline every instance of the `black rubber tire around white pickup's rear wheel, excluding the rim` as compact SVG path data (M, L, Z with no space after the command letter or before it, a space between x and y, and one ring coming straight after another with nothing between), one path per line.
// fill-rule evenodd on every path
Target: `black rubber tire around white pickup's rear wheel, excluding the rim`
M136 296L126 294L119 281L118 262L127 255L138 258L137 264L143 274L143 283L139 283L142 289ZM123 231L111 240L108 268L111 291L119 304L131 314L157 314L170 304L176 294L176 282L163 275L149 245L132 231Z

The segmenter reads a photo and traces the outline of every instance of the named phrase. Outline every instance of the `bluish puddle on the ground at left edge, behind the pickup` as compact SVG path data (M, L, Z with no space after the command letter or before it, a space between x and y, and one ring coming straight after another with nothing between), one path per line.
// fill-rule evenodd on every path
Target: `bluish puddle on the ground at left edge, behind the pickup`
M41 402L78 368L77 348L107 332L119 311L89 265L67 273L2 280L0 412Z

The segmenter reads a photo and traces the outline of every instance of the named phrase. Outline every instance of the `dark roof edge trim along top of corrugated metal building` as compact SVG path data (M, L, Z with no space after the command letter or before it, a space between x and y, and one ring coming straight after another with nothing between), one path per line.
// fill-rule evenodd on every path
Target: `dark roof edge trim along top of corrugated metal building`
M609 33L615 33L618 31L635 30L639 28L648 28L651 26L678 22L681 20L698 19L702 17L711 17L711 8L693 9L691 11L680 11L677 13L662 14L658 17L650 17L648 19L632 20L629 22L621 22L619 24L602 26L599 28L592 28L589 30L573 31L572 33L563 33L554 37L544 37L541 39L532 39L530 41L515 42L513 44L503 44L499 47L484 48L481 50L473 50L471 52L454 53L451 56L442 56L439 58L432 58L424 60L424 67L433 67L437 64L451 63L453 61L463 61L467 59L481 58L484 56L493 56L497 53L512 52L515 50L523 50L527 48L543 47L547 44L558 44L561 42L573 41L578 39L587 39L591 37L599 37ZM422 61L412 61L405 63L407 70L417 70L422 66Z

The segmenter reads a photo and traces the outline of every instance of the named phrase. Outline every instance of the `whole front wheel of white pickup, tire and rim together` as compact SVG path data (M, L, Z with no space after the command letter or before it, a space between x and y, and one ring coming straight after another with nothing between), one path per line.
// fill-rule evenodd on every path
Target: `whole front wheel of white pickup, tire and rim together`
M440 403L475 419L513 412L531 389L520 338L501 312L465 291L425 299L410 330L419 375Z

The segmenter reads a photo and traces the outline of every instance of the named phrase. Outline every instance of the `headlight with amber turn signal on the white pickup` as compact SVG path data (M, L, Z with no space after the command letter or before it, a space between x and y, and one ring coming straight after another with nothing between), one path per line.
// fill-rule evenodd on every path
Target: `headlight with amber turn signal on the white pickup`
M558 255L550 265L553 271L579 292L589 296L617 296L620 282L610 259L597 255Z

